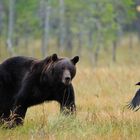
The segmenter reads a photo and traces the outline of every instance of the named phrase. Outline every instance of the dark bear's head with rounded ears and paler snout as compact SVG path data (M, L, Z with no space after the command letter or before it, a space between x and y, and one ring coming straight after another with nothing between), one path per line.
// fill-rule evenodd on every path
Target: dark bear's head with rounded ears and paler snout
M56 54L53 54L52 61L54 62L52 67L52 77L54 80L63 83L66 86L71 84L71 81L76 74L75 65L79 61L79 57L75 56L72 59L59 58Z

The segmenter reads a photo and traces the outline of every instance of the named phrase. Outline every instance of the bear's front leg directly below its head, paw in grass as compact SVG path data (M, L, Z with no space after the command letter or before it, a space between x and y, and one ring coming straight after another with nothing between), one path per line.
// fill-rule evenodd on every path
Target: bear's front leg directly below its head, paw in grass
M62 94L60 111L65 115L72 115L76 113L75 95L72 85L67 86Z

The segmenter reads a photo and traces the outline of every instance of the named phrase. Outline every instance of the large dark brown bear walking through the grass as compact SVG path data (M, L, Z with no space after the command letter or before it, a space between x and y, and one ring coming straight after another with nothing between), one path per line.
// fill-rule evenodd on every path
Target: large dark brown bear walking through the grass
M69 59L57 54L43 60L23 56L5 60L0 64L1 122L12 122L9 127L23 124L27 108L44 101L57 101L62 112L74 113L71 81L78 61L78 56Z

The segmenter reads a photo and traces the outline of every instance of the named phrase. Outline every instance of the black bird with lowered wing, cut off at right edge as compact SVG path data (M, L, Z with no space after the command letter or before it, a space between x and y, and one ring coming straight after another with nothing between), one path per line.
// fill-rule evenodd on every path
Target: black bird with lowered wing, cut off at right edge
M136 83L140 86L140 82ZM137 90L131 102L127 105L129 109L138 111L140 109L140 89Z

